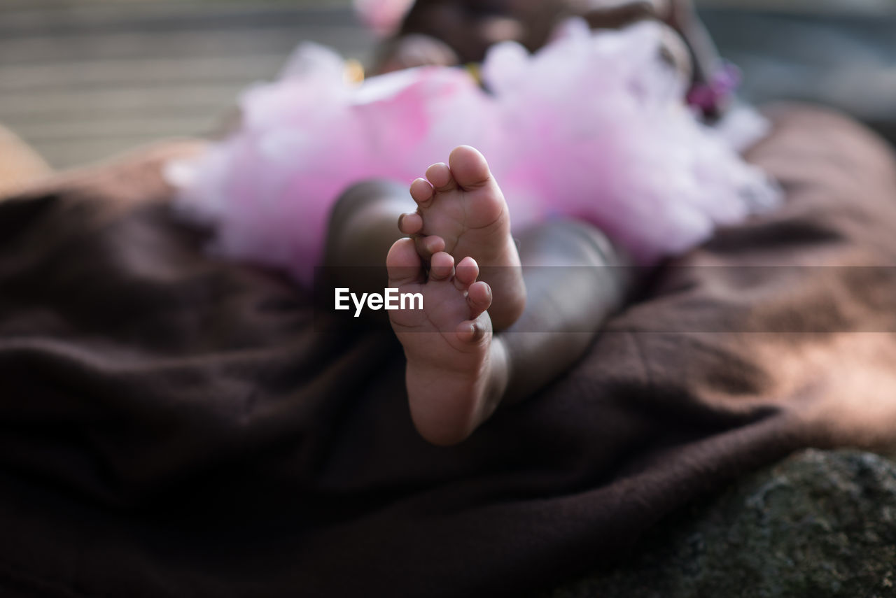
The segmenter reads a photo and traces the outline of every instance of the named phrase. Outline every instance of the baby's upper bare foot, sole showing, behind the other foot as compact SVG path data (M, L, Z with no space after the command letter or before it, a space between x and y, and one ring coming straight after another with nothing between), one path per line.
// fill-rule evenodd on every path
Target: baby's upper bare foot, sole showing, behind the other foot
M510 211L486 158L469 146L454 149L447 165L429 167L410 185L410 195L418 209L401 216L401 232L415 236L424 259L437 252L473 258L495 294L495 329L510 327L526 306L526 286Z

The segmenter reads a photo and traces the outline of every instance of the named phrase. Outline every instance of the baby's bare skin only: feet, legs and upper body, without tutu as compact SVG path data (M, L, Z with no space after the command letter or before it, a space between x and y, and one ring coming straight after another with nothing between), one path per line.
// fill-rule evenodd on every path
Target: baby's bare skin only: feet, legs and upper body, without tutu
M676 33L694 30L689 8L664 0L421 0L386 45L381 71L478 61L506 39L536 49L556 21L574 13L592 27L668 23L668 59L692 73ZM620 268L629 264L624 253L579 221L549 221L514 240L501 187L487 159L468 146L429 167L410 195L417 209L406 212L407 192L390 184L349 190L332 212L326 263L364 265L384 256L389 286L423 295L422 311L389 317L407 357L413 421L426 440L451 445L500 404L544 387L579 359L624 303L634 269ZM383 288L380 276L370 270L368 280L342 282L373 291Z

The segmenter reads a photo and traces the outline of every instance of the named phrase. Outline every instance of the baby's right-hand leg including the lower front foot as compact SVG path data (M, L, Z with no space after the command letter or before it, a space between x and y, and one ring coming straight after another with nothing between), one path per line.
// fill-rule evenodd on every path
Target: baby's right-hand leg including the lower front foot
M521 236L521 254L530 301L511 329L495 334L483 312L491 289L475 282L475 261L466 258L454 270L451 256L438 253L427 278L411 240L392 247L390 284L425 295L422 311L390 315L408 359L410 411L426 440L466 440L501 403L544 388L582 357L633 283L621 253L582 223L530 230Z

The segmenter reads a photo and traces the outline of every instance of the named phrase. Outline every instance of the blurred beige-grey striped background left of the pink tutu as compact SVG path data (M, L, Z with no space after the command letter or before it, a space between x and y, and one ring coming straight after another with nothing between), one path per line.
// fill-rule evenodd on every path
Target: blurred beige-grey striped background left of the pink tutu
M344 3L0 0L0 123L54 167L211 132L300 40L373 43Z

